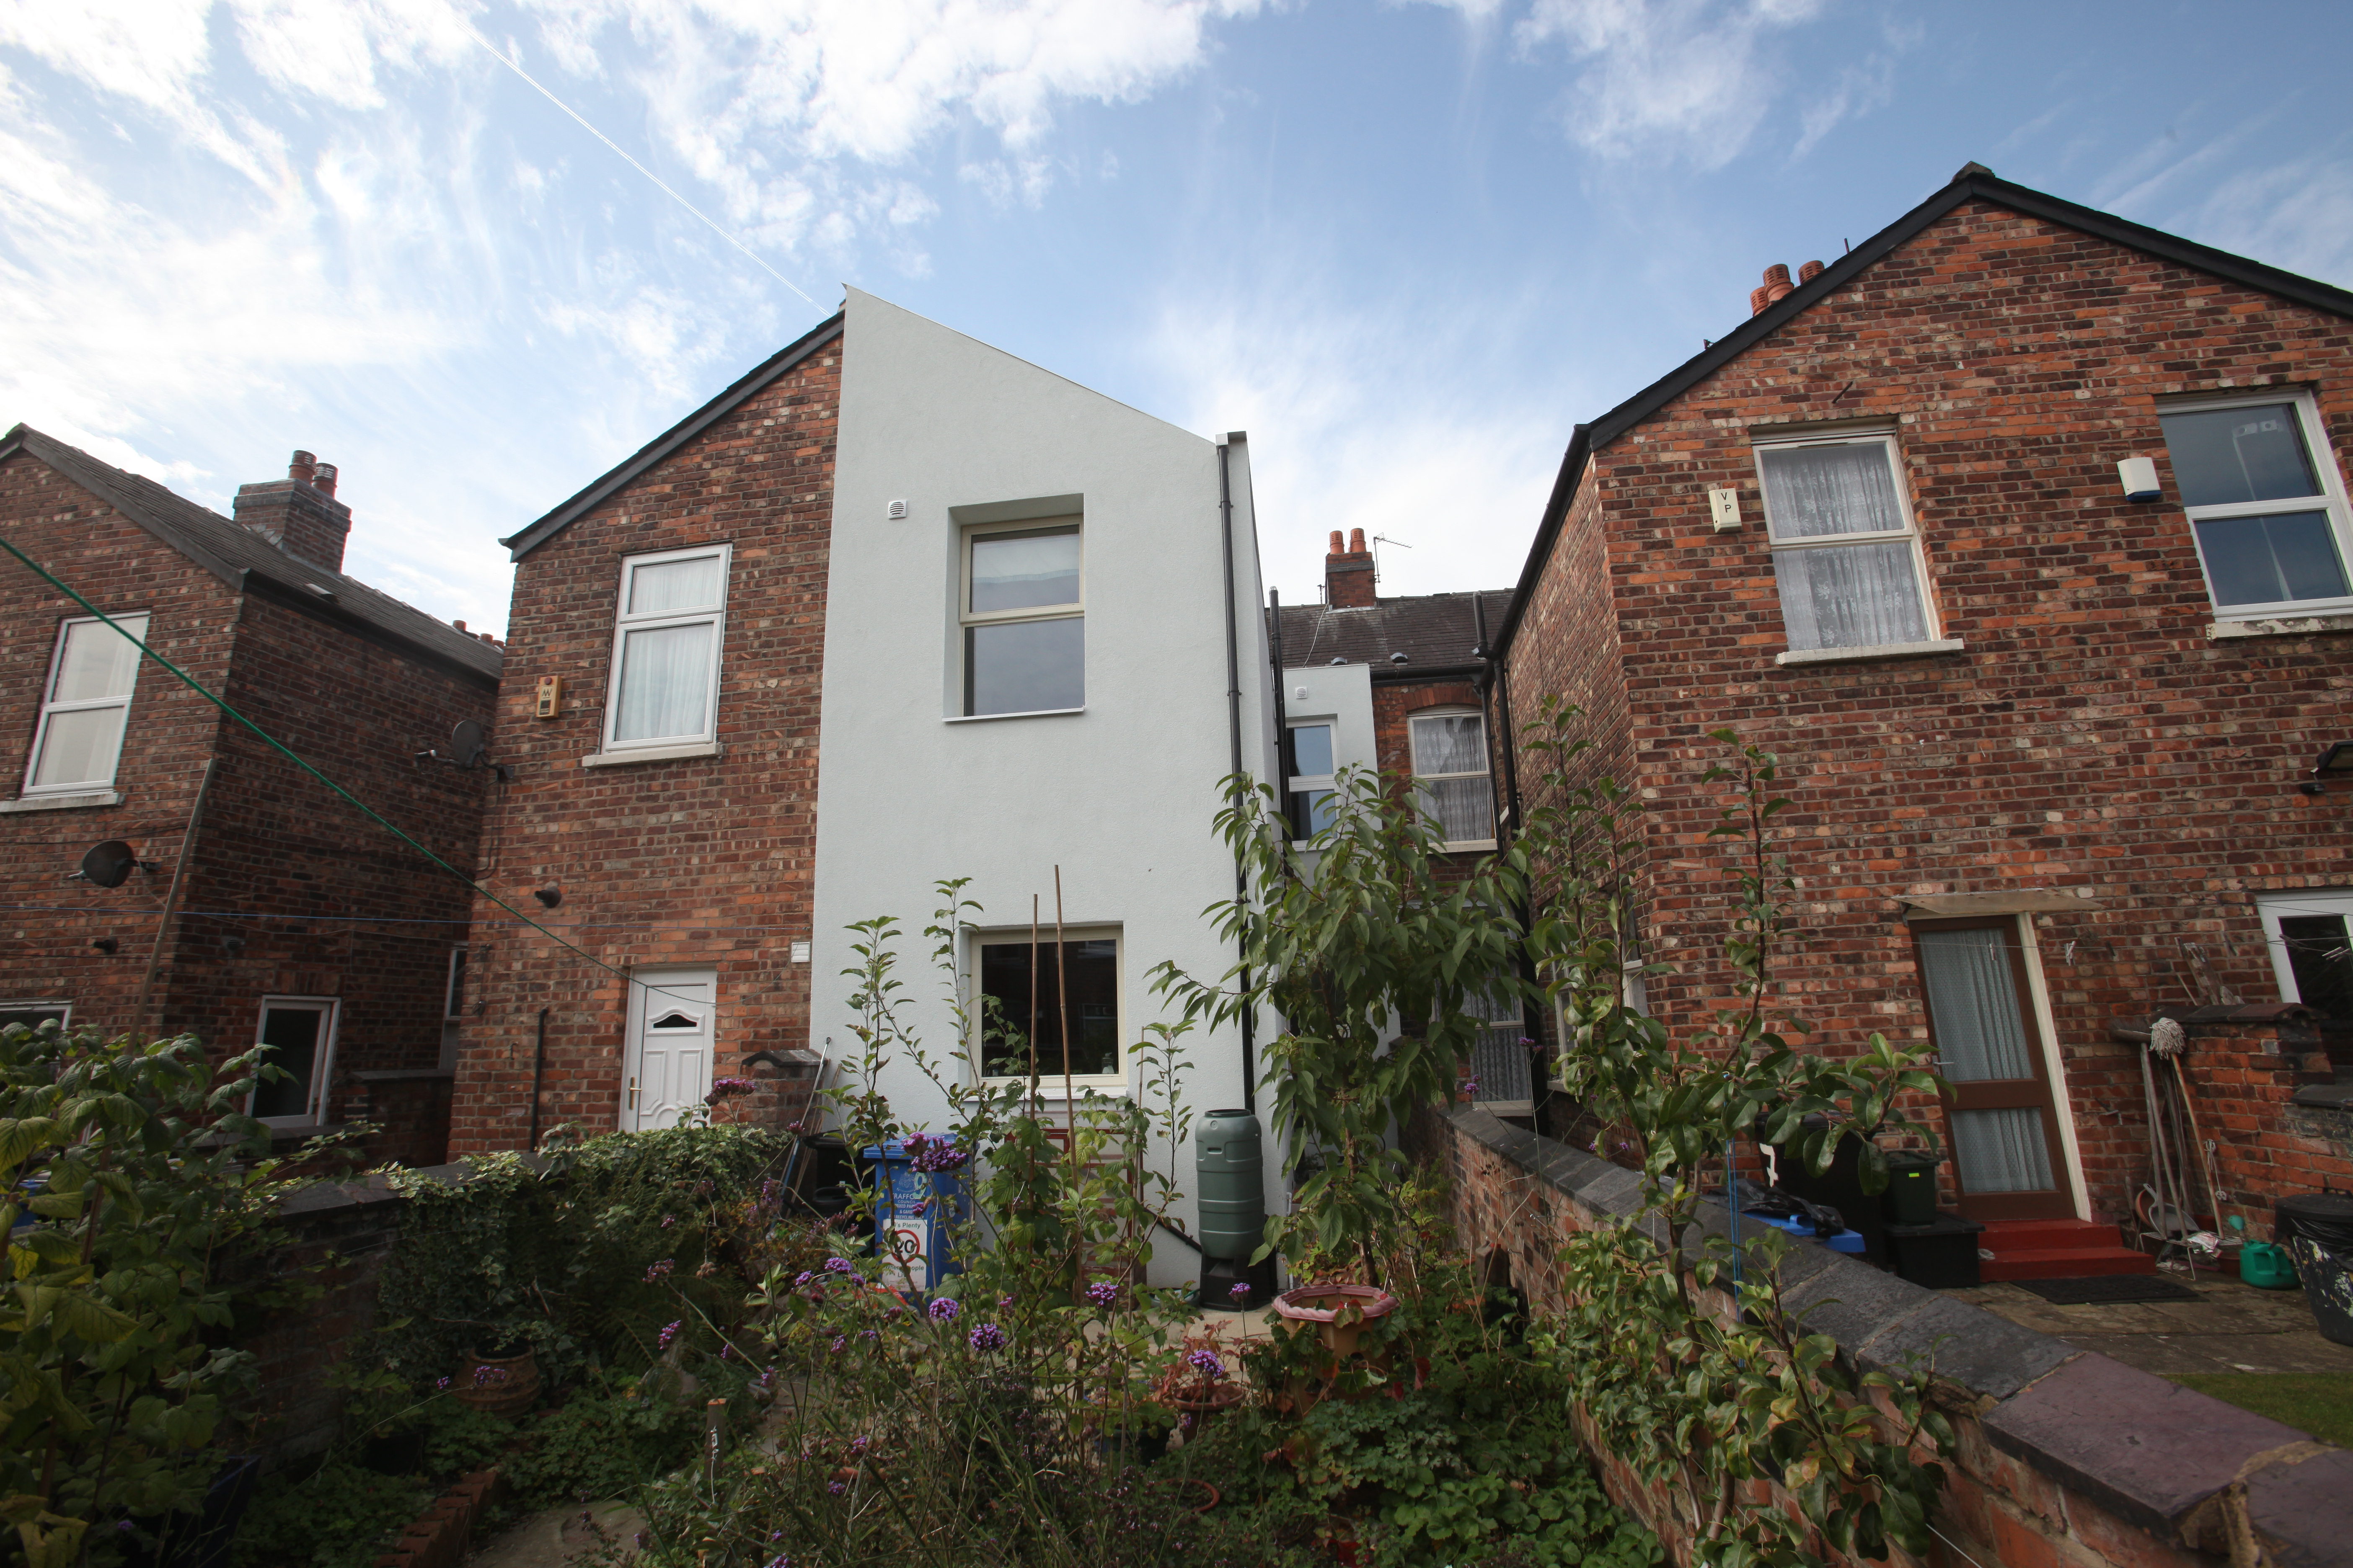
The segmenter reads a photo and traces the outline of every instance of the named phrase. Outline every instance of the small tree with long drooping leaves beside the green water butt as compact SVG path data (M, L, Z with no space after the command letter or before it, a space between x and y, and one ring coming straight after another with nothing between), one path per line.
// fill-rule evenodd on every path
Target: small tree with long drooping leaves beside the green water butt
M1468 1004L1520 992L1522 879L1515 853L1461 872L1438 825L1365 769L1339 773L1329 809L1301 856L1282 797L1226 780L1217 827L1245 893L1209 914L1240 959L1214 983L1160 964L1153 992L1181 1001L1186 1023L1280 1018L1264 1053L1275 1133L1294 1161L1313 1150L1322 1168L1289 1215L1268 1220L1259 1255L1280 1248L1311 1274L1346 1265L1369 1279L1405 1218L1391 1128L1452 1091L1487 1027Z

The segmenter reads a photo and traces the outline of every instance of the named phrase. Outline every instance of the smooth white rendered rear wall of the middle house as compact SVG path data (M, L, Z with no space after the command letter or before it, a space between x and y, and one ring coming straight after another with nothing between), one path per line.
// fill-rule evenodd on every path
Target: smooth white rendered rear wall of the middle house
M1266 621L1249 449L1228 449L1245 769L1273 773ZM948 508L1085 498L1087 708L951 722L960 691L958 522ZM908 515L889 520L892 501ZM833 562L816 783L812 1048L854 1051L845 926L894 914L904 1020L958 1048L922 926L932 884L969 877L984 926L1054 914L1122 929L1122 1030L1162 1018L1146 973L1217 978L1233 950L1202 910L1233 896L1214 835L1231 769L1219 449L1007 353L849 289L833 484ZM1238 1030L1191 1037L1198 1110L1242 1103ZM894 1063L882 1086L915 1126L944 1100ZM1264 1105L1261 1105L1264 1114ZM1167 1150L1153 1164L1167 1168ZM1176 1159L1191 1190L1193 1150ZM1273 1187L1273 1182L1271 1182ZM1186 1225L1193 1222L1191 1204ZM1158 1284L1195 1258L1162 1237Z

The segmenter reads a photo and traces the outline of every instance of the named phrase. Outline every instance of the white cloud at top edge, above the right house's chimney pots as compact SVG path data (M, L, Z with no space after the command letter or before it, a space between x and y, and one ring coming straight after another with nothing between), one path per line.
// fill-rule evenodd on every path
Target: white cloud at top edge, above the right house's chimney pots
M1529 56L1560 42L1586 66L1565 99L1579 146L1720 169L1784 87L1765 42L1819 12L1821 0L1537 0L1513 38Z

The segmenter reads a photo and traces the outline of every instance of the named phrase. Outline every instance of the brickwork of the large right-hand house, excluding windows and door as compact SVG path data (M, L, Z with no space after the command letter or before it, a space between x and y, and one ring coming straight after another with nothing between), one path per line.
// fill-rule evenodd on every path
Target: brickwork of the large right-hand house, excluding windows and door
M1727 315L1739 301L1727 299ZM1584 703L1591 766L1649 804L1652 1004L1699 1018L1729 844L1697 778L1732 726L1781 757L1807 1044L1925 1039L1899 896L2089 889L2033 917L2092 1208L2141 1180L2139 1065L2111 1016L2195 1004L2181 943L2275 997L2254 896L2353 884L2348 804L2294 790L2346 736L2353 635L2214 639L2155 397L2315 393L2353 444L2353 324L1986 202L1962 205L1593 454L1508 651L1515 726ZM1929 595L1962 654L1777 668L1751 433L1897 428ZM2129 503L2122 456L2167 501ZM1741 491L1715 534L1706 491ZM1527 804L1537 804L1522 757Z

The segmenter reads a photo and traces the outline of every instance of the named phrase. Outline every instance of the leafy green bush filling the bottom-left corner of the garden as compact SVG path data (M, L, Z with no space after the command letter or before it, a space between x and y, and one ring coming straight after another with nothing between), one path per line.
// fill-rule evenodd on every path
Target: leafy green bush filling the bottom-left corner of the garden
M240 1307L282 1305L301 1269L233 1274L268 1213L332 1140L268 1157L245 1114L249 1051L214 1067L193 1034L0 1030L0 1512L33 1568L108 1563L125 1530L169 1519L219 1467L219 1432L254 1387L219 1340ZM24 1229L19 1222L28 1220Z

